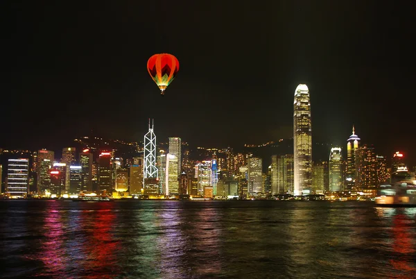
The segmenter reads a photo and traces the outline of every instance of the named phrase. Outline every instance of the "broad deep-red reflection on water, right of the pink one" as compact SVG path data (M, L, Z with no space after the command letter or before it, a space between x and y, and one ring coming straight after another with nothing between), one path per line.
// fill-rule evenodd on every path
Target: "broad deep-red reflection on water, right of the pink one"
M111 203L100 202L94 218L86 217L87 223L92 223L92 237L85 243L87 254L87 271L85 278L114 278L117 271L116 250L119 241L112 237L110 230L116 218Z

